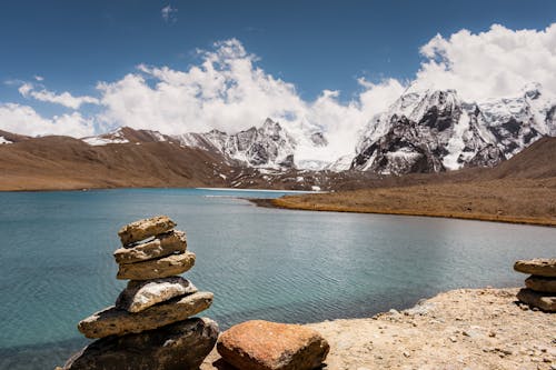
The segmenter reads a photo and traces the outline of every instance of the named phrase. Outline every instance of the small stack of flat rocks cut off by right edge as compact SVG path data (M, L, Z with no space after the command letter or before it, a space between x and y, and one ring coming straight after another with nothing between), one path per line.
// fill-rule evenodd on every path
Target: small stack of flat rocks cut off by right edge
M520 260L514 270L530 273L517 299L547 312L556 312L556 259Z

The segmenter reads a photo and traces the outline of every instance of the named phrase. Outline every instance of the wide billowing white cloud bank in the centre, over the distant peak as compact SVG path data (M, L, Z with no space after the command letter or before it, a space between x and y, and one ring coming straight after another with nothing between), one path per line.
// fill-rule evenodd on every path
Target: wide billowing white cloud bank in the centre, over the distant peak
M328 90L315 101L305 101L294 84L257 67L258 58L236 39L217 42L215 50L199 54L201 62L185 71L140 64L137 73L99 83L106 108L100 120L183 133L215 128L237 132L270 117L298 138L324 131L334 148L327 153L339 156L354 150L358 130L404 89L396 80L374 84L361 79L364 91L348 103L338 100L338 91Z

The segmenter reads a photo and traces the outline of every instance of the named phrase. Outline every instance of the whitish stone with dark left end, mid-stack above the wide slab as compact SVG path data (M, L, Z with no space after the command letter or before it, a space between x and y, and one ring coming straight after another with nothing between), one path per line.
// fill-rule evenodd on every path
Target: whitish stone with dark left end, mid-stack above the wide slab
M116 308L139 312L172 298L196 292L197 288L181 277L131 280L116 300Z

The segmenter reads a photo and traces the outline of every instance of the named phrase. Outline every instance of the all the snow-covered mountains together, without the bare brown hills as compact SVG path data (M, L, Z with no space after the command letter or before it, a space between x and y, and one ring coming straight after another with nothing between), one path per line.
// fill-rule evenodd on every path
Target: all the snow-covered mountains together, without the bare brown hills
M236 133L169 136L120 128L82 140L91 146L167 141L221 156L230 164L278 171L439 172L493 167L542 137L556 136L556 99L538 84L517 98L483 102L466 102L454 90L406 91L361 129L353 154L340 157L326 134L315 124L296 128L267 119Z

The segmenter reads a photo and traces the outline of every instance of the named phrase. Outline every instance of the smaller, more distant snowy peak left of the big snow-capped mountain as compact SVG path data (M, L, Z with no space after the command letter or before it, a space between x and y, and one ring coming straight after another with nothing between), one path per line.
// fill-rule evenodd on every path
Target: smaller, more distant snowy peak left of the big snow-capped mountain
M226 157L258 168L292 168L296 140L278 123L267 119L261 127L228 134L211 130L175 137L181 144L218 150ZM322 138L317 138L322 142Z

